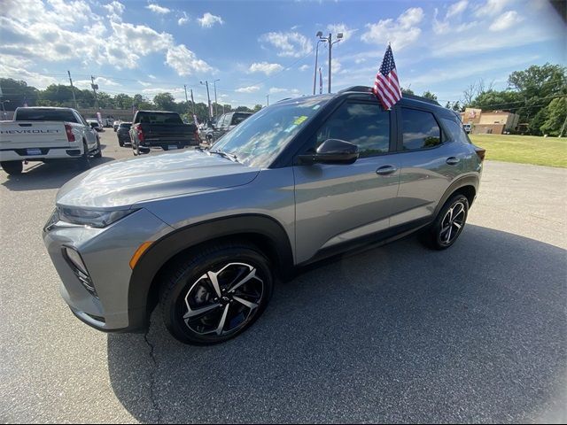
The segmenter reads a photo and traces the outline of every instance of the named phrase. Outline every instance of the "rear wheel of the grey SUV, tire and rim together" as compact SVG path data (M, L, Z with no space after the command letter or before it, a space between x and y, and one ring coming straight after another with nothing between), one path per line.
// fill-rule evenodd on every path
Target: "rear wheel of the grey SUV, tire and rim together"
M452 213L449 213L452 209ZM468 216L469 200L464 195L454 195L443 205L431 226L423 232L423 243L433 250L447 250L461 236Z

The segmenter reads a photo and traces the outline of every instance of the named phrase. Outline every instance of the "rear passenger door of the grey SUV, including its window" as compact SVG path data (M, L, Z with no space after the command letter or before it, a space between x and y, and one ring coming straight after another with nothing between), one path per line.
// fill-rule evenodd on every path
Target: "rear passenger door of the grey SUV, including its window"
M396 106L400 138L400 213L392 226L431 218L439 199L462 173L462 149L441 129L433 108Z

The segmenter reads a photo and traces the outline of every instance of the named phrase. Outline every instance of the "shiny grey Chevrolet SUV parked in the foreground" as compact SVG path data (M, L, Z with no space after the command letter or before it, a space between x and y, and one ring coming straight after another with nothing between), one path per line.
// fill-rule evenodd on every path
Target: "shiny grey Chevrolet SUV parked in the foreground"
M369 88L273 104L211 150L98 166L59 190L43 238L73 313L139 331L154 307L175 338L215 344L268 305L276 279L420 230L461 235L485 151L459 117Z

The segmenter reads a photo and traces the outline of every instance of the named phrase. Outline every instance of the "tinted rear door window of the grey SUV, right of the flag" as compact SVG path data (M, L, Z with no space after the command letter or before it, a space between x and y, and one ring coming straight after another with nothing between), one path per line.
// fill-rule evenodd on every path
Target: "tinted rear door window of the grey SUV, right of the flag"
M431 112L401 108L404 151L432 148L441 143L441 129Z

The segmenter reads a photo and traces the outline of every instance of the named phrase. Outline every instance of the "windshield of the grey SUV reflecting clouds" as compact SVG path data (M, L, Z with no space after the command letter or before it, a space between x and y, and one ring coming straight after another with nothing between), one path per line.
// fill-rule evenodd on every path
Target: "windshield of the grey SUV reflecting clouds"
M330 97L299 98L254 113L214 143L214 151L236 155L247 166L268 166Z

